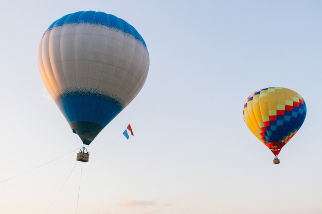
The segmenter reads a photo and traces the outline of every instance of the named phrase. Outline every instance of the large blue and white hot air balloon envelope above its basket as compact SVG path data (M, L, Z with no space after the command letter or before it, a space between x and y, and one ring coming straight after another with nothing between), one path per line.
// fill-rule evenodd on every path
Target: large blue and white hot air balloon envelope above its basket
M90 145L141 90L149 53L126 21L104 12L80 11L61 17L45 31L38 66L70 128Z

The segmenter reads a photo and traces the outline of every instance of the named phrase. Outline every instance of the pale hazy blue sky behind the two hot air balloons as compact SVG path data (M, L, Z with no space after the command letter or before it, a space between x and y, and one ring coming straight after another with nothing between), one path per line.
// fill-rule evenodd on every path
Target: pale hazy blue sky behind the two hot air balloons
M90 162L75 166L75 151L0 183L2 213L45 213L55 198L48 214L75 213L81 165L79 214L322 213L320 1L3 3L0 181L79 148L46 98L37 51L52 22L86 10L138 30L147 82L91 144ZM242 117L247 96L270 86L295 90L308 108L279 165Z

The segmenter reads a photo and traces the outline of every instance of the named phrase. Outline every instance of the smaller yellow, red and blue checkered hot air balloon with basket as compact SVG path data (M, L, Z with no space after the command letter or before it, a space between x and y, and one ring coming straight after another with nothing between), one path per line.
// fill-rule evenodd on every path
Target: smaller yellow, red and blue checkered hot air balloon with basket
M301 95L281 87L258 90L244 103L243 118L253 134L277 155L304 122L307 107Z

